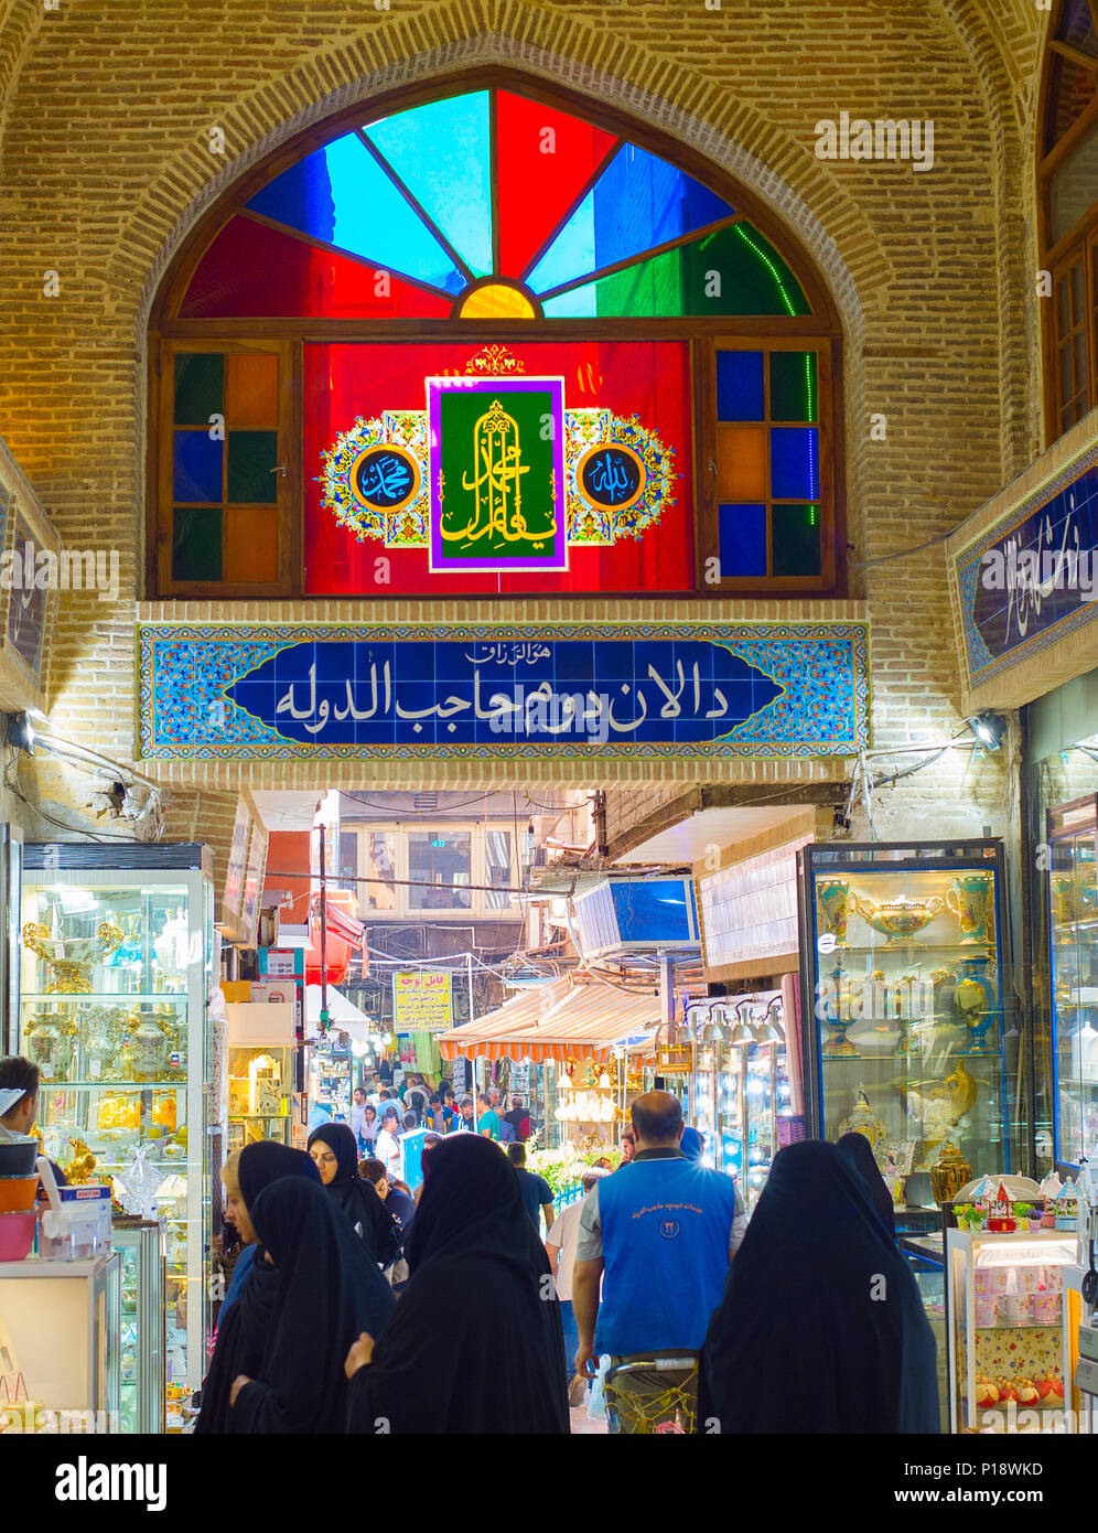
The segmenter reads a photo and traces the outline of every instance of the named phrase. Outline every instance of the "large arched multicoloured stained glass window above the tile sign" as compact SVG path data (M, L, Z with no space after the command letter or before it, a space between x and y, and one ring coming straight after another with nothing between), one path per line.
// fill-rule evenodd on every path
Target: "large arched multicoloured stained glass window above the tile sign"
M256 173L155 319L153 589L841 589L833 313L666 147L487 83Z

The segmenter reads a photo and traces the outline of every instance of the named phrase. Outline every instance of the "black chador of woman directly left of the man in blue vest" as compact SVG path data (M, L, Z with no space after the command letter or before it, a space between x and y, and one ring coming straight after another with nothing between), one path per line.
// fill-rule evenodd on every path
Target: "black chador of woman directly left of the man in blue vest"
M515 1168L476 1134L424 1164L412 1277L351 1381L348 1430L568 1432L560 1309Z

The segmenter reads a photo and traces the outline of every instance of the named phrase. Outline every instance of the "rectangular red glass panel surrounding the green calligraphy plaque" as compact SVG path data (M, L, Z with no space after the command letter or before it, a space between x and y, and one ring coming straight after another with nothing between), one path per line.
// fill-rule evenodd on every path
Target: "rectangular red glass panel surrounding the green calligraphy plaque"
M691 475L691 371L683 342L538 342L510 346L528 377L564 377L565 409L600 406L636 415L674 451L674 498L640 538L611 547L571 546L557 573L432 573L426 547L360 543L320 504L314 478L320 455L355 417L426 406L424 379L461 374L476 346L305 346L305 590L308 595L462 598L524 592L680 592L694 587L694 487ZM314 468L317 464L317 468ZM380 573L383 572L383 573ZM386 581L380 584L380 581Z

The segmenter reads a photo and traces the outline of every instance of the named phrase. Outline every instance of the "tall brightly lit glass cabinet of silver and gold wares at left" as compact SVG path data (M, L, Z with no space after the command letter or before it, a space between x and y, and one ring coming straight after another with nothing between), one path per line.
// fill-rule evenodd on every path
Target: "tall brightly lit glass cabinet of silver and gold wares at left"
M199 1386L210 1331L210 851L184 845L23 858L15 1047L41 1069L38 1124L69 1180L109 1176L127 1213L164 1222L175 1397Z

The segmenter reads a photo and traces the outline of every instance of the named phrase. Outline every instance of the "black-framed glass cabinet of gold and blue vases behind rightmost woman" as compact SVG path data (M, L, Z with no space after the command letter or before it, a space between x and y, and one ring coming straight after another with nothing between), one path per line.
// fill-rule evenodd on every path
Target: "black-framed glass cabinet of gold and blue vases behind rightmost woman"
M821 843L798 865L809 1131L864 1133L897 1200L913 1171L942 1203L1017 1165L1002 842Z

